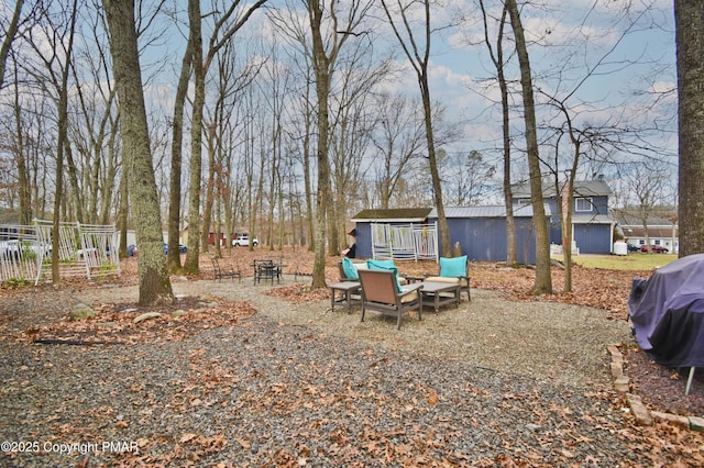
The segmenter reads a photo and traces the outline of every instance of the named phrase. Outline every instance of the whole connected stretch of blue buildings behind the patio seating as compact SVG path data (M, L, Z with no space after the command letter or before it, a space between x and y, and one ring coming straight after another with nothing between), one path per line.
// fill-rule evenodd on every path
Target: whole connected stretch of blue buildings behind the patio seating
M536 263L534 212L530 187L515 186L514 219L519 263ZM610 254L615 221L608 212L610 188L602 179L574 185L572 238L580 253ZM544 207L552 244L562 243L554 188L546 185ZM446 207L450 245L474 261L506 261L506 208ZM438 258L438 213L435 209L363 210L352 222L356 227L356 256L360 258Z

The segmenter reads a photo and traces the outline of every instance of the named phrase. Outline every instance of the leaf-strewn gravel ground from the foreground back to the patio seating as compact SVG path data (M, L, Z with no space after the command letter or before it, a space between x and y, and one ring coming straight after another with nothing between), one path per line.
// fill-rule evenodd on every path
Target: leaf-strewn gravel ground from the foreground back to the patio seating
M0 465L696 465L653 453L631 425L606 353L628 327L601 311L474 290L397 332L374 313L361 323L359 309L292 304L265 289L175 281L177 294L257 312L124 346L14 337L78 301L134 301L136 287L0 298L0 437L12 449L3 443ZM701 452L701 438L688 443Z

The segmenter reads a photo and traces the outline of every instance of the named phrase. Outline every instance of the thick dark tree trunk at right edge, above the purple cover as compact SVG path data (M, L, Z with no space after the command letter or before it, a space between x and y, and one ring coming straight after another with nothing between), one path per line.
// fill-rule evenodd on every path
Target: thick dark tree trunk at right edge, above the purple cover
M675 0L680 257L704 253L704 2Z

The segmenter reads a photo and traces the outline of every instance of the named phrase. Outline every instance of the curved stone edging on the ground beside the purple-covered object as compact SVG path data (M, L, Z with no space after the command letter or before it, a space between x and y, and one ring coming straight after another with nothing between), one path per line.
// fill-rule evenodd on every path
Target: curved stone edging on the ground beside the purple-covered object
M630 393L630 379L624 372L624 355L617 345L606 346L612 356L612 377L614 378L614 389L626 393L626 400L630 406L630 412L640 425L652 425L653 421L662 421L683 427L690 431L704 432L704 417L682 416L680 414L662 413L660 411L648 411L639 395Z

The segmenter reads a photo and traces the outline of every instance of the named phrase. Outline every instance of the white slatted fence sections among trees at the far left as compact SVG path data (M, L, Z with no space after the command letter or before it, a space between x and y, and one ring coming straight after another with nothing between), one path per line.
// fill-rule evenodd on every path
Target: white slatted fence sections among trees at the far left
M52 278L52 221L20 226L0 224L0 281L37 285ZM114 225L61 223L58 261L62 277L95 278L120 275Z

